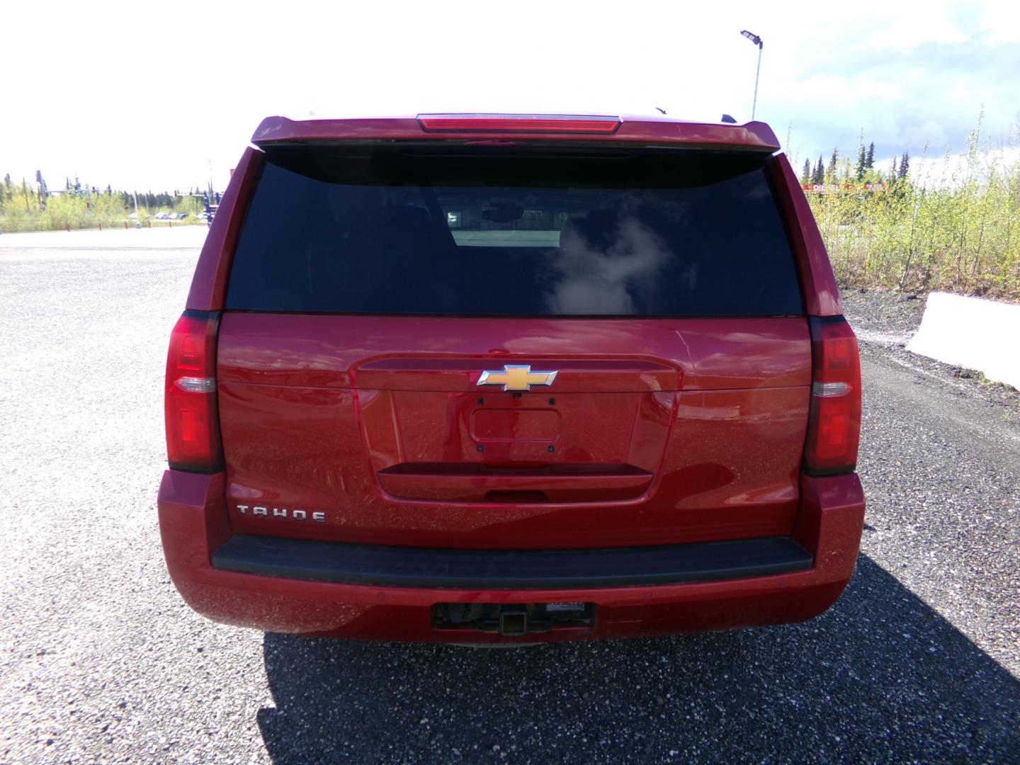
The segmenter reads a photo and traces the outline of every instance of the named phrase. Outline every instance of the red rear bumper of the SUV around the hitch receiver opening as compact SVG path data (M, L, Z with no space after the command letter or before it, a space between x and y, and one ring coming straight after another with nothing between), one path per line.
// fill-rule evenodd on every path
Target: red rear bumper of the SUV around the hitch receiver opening
M629 567L621 564L631 578L607 576L605 582L611 585L595 586L592 577L597 571L591 565L582 576L563 578L557 575L564 571L563 566L537 558L528 567L539 566L545 578L486 577L499 588L481 586L481 581L470 578L449 578L449 574L437 577L437 585L429 586L427 579L420 578L421 569L413 566L402 569L405 573L410 570L404 578L389 580L396 583L384 584L372 583L381 580L377 573L362 572L360 578L349 570L338 573L328 561L328 551L319 543L296 548L285 543L279 548L284 552L276 553L277 567L263 569L275 575L247 572L258 570L253 563L262 554L259 541L253 546L252 538L233 536L223 490L221 473L167 470L160 484L159 522L167 568L192 608L216 621L270 631L388 641L533 643L802 621L822 613L839 597L854 571L864 522L864 497L857 475L805 477L792 538L781 538L764 548L745 547L743 552L740 545L733 548L733 543L721 543L714 559L711 551L702 549L688 556L701 562L687 565L685 573L679 569L664 573L662 561L655 562L650 555L648 571L659 567L655 576L646 571L644 578L633 578L631 561ZM671 550L675 553L683 547ZM704 546L686 547L693 552ZM291 565L295 551L306 558L304 572ZM601 560L605 562L612 551L603 552L606 555ZM322 557L316 559L316 555ZM760 565L742 570L732 563L732 555L759 556L756 561ZM376 568L378 560L376 556ZM599 556L588 560L596 565ZM677 560L675 554L672 560ZM474 565L470 560L465 563L465 571ZM619 573L621 566L614 570ZM501 570L512 572L513 566ZM296 576L303 578L293 578ZM670 576L674 583L658 583ZM368 583L352 583L352 578ZM627 583L620 583L624 581ZM652 583L633 583L641 581ZM588 603L594 604L596 619L591 626L508 638L470 627L438 628L434 614L435 606L441 603Z

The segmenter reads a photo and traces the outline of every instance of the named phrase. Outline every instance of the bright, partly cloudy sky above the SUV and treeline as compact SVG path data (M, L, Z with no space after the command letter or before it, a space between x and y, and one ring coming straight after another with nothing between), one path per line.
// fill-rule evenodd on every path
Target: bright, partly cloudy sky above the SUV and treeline
M827 7L828 6L828 7ZM8 2L0 174L222 189L262 117L756 118L798 162L1016 142L1020 4ZM788 137L788 141L787 141Z

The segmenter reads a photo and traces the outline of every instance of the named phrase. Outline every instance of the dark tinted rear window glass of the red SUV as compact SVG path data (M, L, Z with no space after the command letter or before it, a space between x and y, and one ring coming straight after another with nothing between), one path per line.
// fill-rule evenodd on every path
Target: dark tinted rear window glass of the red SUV
M765 158L482 148L276 149L228 310L802 313Z

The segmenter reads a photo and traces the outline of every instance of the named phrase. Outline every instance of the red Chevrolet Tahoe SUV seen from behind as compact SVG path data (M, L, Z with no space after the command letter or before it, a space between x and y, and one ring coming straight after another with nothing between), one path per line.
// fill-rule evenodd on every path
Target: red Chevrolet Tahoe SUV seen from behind
M778 144L269 117L170 339L198 612L443 643L807 619L854 570L857 341Z

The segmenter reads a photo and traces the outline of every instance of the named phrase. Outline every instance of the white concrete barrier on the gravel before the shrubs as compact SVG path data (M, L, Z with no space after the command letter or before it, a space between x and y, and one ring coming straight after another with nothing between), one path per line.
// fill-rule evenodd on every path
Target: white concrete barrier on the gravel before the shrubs
M1020 389L1020 305L933 292L907 350Z

